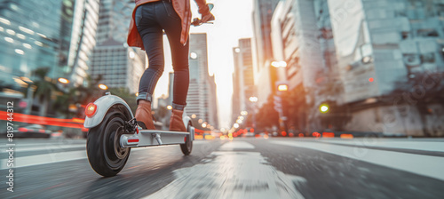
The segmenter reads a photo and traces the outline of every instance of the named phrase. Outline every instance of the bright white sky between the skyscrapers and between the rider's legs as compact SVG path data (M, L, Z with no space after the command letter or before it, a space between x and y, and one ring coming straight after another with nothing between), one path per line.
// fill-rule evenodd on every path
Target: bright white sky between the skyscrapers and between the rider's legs
M216 17L214 24L191 27L191 33L207 33L208 63L210 75L216 76L218 89L219 127L230 127L231 97L233 94L234 60L233 47L238 46L240 38L253 37L251 20L252 0L208 0L214 4L211 11ZM197 5L191 4L194 17L199 17ZM155 97L168 95L168 73L172 72L170 47L165 42L165 72L155 88Z

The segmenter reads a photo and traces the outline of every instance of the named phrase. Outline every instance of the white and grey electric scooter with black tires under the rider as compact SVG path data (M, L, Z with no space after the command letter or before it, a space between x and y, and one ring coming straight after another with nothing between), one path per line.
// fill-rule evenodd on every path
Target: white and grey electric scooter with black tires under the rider
M210 10L213 5L210 5ZM194 19L192 25L202 25ZM193 149L194 127L191 118L183 115L186 131L143 130L130 106L118 96L107 92L85 108L83 126L88 128L86 151L94 171L104 177L115 176L128 161L132 147L179 145L184 155Z

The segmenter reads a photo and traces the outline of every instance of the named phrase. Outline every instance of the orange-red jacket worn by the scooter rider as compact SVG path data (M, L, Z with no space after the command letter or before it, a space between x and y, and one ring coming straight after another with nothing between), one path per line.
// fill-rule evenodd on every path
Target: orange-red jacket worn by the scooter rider
M136 27L136 21L134 20L136 15L136 9L141 4L147 4L150 2L156 2L159 0L136 0L136 7L132 11L132 18L130 23L130 30L128 32L127 43L132 47L140 47L145 50L142 42L142 38L139 35L138 28ZM199 13L202 15L208 14L210 9L206 4L206 0L194 0L199 6ZM188 33L191 25L191 11L189 0L171 0L171 4L174 10L178 13L178 17L182 20L182 34L180 36L180 43L185 44L188 39Z

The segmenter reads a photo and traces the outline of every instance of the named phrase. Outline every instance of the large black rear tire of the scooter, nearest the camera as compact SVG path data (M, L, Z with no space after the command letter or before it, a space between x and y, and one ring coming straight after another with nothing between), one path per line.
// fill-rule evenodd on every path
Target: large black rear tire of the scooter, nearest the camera
M108 112L102 123L88 131L86 152L94 171L104 177L115 176L122 171L131 148L120 147L120 127L125 116L116 111Z

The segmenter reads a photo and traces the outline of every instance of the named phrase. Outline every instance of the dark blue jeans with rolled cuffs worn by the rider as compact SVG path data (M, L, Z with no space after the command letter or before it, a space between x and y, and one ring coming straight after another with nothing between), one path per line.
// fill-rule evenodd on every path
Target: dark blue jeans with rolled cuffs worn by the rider
M180 44L181 20L168 0L139 5L135 14L136 26L147 52L149 66L140 78L137 100L153 98L155 84L163 74L163 30L168 36L174 69L174 109L183 110L189 85L188 52L189 42Z

